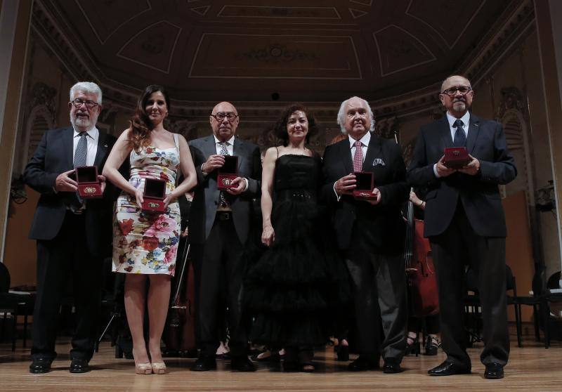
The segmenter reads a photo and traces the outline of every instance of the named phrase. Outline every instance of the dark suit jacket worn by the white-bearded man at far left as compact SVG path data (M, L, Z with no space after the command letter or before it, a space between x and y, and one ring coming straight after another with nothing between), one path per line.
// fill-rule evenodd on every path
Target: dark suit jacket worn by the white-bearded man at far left
M58 234L67 211L67 205L76 198L75 192L57 192L53 187L57 176L72 170L72 126L46 131L30 162L25 166L25 183L41 193L30 230L32 240L53 240ZM98 173L103 170L115 137L100 131L98 150L94 164ZM112 201L115 188L107 183L102 199L86 202L86 235L89 250L93 255L106 254L111 244Z

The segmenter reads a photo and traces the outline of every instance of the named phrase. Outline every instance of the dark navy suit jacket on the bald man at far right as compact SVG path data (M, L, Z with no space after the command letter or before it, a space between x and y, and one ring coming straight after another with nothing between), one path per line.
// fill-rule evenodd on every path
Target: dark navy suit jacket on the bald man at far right
M509 155L502 125L480 119L471 113L466 148L480 161L476 176L455 173L436 178L433 164L443 156L445 147L452 147L447 117L421 126L414 148L414 157L408 168L408 182L426 186L426 237L440 235L449 226L457 202L464 211L476 234L484 237L505 237L504 210L498 184L506 184L517 176L513 157Z

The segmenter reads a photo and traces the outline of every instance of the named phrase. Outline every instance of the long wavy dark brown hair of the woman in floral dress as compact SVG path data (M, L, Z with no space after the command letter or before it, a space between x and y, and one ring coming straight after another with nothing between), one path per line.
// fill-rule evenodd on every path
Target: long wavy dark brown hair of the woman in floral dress
M141 148L145 148L150 144L150 131L152 131L154 126L152 122L150 122L150 117L148 117L146 112L146 103L150 96L152 96L152 93L156 93L157 91L162 93L166 101L166 107L170 110L170 98L163 86L151 84L143 91L141 98L138 98L135 114L129 121L129 146L133 148L133 150L141 150Z

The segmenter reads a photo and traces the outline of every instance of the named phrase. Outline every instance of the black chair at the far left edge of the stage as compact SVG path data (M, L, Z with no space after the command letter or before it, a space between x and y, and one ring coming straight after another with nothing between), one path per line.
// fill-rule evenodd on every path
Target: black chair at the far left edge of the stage
M33 292L11 292L10 272L4 263L0 263L0 311L4 313L1 327L1 337L4 337L4 327L8 313L12 315L12 351L15 351L15 341L18 338L18 316L23 316L23 346L27 346L27 316L33 314L35 295Z

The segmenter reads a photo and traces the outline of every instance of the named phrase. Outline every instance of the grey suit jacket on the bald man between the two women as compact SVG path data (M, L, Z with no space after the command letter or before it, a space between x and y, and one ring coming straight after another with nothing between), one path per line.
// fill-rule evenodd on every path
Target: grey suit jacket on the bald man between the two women
M201 165L209 155L216 154L214 136L198 138L189 143L193 153L197 186L190 210L189 235L193 244L202 244L213 227L218 207L216 170L204 176ZM233 221L238 239L246 242L251 223L251 200L261 193L261 159L259 147L235 138L233 155L238 157L238 174L248 179L248 189L237 196L227 195L233 210Z

